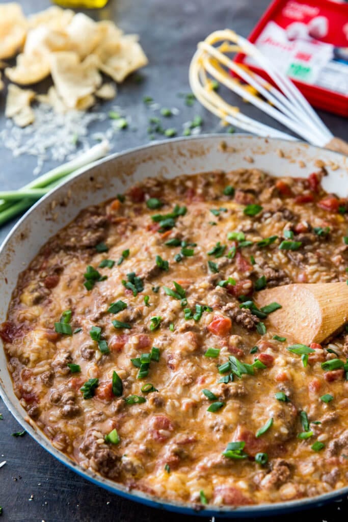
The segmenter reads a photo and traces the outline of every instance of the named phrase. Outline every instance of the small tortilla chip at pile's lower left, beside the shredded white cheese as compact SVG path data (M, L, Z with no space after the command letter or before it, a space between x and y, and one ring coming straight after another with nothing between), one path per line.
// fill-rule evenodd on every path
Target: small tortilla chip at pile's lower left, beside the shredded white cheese
M29 125L34 121L34 112L30 107L30 102L34 97L34 91L20 89L17 85L10 84L7 90L5 116L13 118L19 127Z

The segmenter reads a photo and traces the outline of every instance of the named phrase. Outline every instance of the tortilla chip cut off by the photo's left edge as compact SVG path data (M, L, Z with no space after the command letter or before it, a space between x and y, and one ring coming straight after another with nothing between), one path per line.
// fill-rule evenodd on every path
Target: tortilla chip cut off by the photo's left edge
M27 21L19 4L0 5L0 58L17 53L26 38Z

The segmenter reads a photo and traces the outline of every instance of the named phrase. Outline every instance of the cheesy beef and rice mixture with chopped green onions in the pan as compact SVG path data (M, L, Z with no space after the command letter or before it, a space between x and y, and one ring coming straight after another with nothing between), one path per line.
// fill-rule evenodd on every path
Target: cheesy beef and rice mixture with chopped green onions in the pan
M1 327L21 404L82 468L197 506L348 484L344 333L274 331L263 288L346 279L346 200L257 169L148 179L19 277Z

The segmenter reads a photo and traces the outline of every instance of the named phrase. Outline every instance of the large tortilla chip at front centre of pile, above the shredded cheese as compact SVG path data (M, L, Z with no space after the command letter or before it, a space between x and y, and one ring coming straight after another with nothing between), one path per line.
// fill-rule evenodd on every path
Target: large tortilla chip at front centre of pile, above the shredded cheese
M57 93L70 109L76 109L81 100L93 94L101 85L98 59L94 55L80 62L78 54L74 52L52 53L50 62Z

